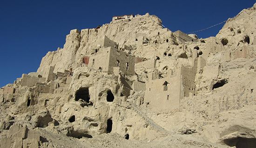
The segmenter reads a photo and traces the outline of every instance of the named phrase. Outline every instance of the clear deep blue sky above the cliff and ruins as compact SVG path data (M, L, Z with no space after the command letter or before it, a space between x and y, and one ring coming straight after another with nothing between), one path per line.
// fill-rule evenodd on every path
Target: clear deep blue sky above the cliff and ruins
M200 30L235 16L255 0L1 0L0 86L35 72L71 29L95 28L112 16L155 14L171 31ZM223 25L223 24L222 24ZM197 33L215 36L222 25Z

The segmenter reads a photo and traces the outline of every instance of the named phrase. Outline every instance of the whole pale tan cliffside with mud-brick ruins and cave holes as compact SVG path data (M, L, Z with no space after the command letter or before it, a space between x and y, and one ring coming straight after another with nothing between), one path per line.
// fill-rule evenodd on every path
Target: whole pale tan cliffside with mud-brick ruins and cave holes
M71 30L0 117L0 148L256 148L256 4L209 38L148 13Z

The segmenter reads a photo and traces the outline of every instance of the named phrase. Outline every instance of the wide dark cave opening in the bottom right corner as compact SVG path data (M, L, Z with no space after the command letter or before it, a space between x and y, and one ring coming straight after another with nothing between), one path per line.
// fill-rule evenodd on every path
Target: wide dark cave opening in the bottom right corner
M256 148L256 138L235 137L232 139L225 139L224 143L229 147Z

